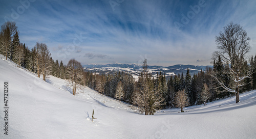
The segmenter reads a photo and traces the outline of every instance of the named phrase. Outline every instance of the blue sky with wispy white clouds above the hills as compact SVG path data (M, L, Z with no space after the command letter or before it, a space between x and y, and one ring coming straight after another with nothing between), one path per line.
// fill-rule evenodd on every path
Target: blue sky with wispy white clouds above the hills
M230 21L256 53L256 1L0 2L0 24L16 21L20 42L46 43L54 60L84 64L211 65L215 36Z

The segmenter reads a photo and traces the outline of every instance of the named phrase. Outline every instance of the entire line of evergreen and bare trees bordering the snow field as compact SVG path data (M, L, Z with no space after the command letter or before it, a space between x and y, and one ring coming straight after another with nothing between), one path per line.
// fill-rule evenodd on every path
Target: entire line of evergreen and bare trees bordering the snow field
M116 72L97 74L85 72L80 62L71 59L67 65L54 61L45 43L37 42L30 50L19 42L15 22L1 26L0 53L18 66L43 76L53 75L69 80L72 94L79 85L88 86L101 94L138 106L139 112L153 115L156 109L205 104L227 96L256 89L256 55L246 59L250 46L246 32L238 24L230 22L216 37L217 48L212 56L213 68L207 67L191 76L189 69L183 73L166 77L159 72L153 76L143 62L143 71L135 79L131 73Z

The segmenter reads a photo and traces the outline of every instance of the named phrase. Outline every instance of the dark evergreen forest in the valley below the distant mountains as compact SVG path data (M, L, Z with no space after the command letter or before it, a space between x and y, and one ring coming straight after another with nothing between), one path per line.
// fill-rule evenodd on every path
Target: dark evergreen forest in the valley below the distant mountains
M256 55L255 58L251 58L251 65L244 64L245 69L250 67L256 67ZM178 91L184 90L188 95L190 105L203 104L201 99L201 92L204 89L204 84L209 88L210 98L208 101L218 100L227 96L233 96L234 94L225 91L223 88L218 86L218 82L215 81L211 74L212 71L219 70L220 72L225 70L225 65L221 61L214 62L214 67L207 67L205 71L201 70L198 74L190 75L189 69L184 76L183 73L165 77L165 74L159 72L156 77L152 77L154 81L154 88L164 98L162 107L173 107L175 106L175 97ZM255 71L255 68L253 69ZM133 104L133 97L136 92L140 90L140 84L142 79L142 73L139 75L138 80L135 80L131 74L125 72L116 72L115 75L99 75L93 72L86 73L86 84L88 87L95 89L96 91L110 97L115 97L117 84L119 81L124 86L123 91L125 92L123 101ZM223 76L227 86L229 85L228 75ZM256 89L256 73L253 73L252 78L246 80L247 85L242 87L240 92L250 91Z

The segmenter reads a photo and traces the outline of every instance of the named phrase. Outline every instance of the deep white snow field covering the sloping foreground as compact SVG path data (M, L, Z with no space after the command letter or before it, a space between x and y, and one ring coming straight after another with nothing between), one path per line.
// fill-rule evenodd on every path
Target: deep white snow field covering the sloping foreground
M66 80L48 76L45 82L0 58L0 138L256 138L256 91L241 94L237 104L231 97L185 107L185 113L173 108L145 116L88 87L73 96Z

